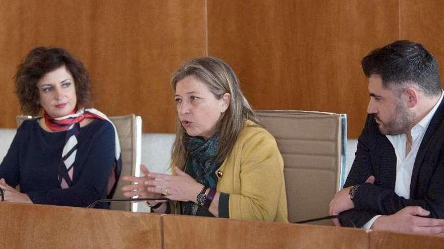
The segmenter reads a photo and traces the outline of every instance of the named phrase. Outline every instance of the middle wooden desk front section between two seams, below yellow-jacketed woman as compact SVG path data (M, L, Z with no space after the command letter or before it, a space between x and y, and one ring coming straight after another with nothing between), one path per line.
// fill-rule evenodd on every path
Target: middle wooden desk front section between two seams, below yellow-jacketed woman
M356 228L240 221L184 215L163 217L164 248L368 248Z

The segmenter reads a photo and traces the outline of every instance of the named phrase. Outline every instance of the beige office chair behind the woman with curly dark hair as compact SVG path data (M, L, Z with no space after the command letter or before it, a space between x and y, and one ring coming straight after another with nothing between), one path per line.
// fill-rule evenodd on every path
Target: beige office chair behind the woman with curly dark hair
M17 125L31 116L17 116ZM119 135L122 153L122 173L113 198L125 198L122 195L122 186L128 184L122 180L122 176L135 175L136 165L140 164L142 119L134 114L125 116L108 117L116 126ZM112 202L111 209L133 211L134 205L130 202Z

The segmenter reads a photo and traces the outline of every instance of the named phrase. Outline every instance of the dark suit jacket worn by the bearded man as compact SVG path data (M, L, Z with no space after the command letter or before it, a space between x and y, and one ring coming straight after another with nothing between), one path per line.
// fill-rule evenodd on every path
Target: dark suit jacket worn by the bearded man
M377 214L391 215L406 206L421 206L429 217L444 218L444 100L439 104L420 144L413 165L410 199L395 193L396 154L392 143L379 132L373 115L367 116L358 139L356 158L344 188L361 184L355 208L342 212L343 226L363 226ZM373 175L374 185L364 183Z

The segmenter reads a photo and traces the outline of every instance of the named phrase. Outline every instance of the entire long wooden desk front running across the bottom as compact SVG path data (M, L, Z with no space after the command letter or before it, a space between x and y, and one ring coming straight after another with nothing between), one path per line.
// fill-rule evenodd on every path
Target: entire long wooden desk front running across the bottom
M356 228L0 202L3 248L444 248Z

